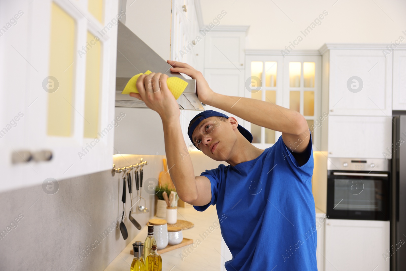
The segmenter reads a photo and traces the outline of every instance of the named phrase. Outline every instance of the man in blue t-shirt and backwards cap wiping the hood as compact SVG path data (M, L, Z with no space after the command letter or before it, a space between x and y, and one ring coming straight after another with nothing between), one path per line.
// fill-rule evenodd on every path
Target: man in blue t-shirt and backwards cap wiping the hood
M225 268L316 271L313 152L306 119L273 103L214 93L190 65L168 63L172 72L197 80L200 102L282 132L272 147L261 150L235 117L203 111L190 120L188 136L205 155L229 165L194 176L180 111L166 85L168 76L141 75L136 82L140 93L130 94L142 98L162 119L169 173L179 197L199 211L216 205L222 237L233 255Z

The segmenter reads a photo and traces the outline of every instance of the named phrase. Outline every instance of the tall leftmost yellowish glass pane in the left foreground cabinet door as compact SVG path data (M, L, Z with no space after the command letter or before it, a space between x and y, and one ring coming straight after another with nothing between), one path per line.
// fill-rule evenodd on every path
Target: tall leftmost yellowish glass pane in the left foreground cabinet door
M75 36L73 17L52 2L49 75L53 78L48 79L48 84L56 89L48 93L47 134L50 136L72 135Z

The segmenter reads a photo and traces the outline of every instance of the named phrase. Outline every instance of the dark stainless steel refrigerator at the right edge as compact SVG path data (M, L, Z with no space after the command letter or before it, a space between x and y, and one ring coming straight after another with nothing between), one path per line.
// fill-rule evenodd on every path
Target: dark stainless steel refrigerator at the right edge
M406 115L393 116L391 165L391 271L406 270Z

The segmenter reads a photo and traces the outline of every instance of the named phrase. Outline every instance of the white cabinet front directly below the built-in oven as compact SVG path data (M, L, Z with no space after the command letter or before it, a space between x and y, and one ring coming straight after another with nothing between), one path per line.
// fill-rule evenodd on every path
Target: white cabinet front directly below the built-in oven
M325 271L389 271L389 221L326 219Z

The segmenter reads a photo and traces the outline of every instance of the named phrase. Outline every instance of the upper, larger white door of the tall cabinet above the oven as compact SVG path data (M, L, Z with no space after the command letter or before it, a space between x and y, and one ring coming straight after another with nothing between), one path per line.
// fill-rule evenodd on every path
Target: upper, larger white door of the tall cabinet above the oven
M330 115L392 115L392 57L381 50L330 50Z

